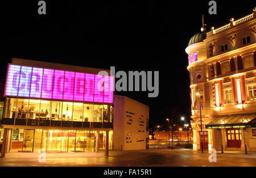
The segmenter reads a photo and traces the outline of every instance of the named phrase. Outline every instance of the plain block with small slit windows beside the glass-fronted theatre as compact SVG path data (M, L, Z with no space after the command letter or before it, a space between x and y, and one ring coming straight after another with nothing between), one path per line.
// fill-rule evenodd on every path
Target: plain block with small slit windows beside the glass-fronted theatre
M114 150L145 150L149 107L125 96L114 96Z

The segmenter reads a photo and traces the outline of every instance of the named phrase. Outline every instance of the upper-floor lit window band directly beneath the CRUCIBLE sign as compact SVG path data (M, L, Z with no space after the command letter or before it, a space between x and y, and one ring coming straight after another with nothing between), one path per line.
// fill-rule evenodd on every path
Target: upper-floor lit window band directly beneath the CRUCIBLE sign
M16 119L15 125L27 124L18 119L35 120L35 125L47 121L112 123L112 110L112 105L106 104L6 97L3 118Z

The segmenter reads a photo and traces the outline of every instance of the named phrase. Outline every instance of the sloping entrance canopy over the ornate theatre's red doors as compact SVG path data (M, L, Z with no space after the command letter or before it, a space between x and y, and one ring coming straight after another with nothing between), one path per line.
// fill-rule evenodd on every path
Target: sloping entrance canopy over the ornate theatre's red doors
M206 129L222 129L222 128L241 128L255 127L256 113L251 114L234 114L234 115L218 115L207 125Z

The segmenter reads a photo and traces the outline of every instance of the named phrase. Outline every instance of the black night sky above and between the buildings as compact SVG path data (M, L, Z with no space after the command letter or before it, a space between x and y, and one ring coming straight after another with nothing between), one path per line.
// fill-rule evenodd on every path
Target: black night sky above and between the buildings
M189 118L189 73L185 47L201 28L208 30L253 12L253 1L38 1L1 2L1 71L5 80L11 57L116 71L159 71L159 96L116 92L150 106L150 126L165 118Z

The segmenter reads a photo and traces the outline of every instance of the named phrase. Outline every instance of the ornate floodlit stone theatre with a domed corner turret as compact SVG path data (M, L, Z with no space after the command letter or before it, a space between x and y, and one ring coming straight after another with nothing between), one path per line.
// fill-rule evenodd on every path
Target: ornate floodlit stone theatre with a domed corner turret
M185 49L193 150L256 151L255 10L209 31L203 20Z

